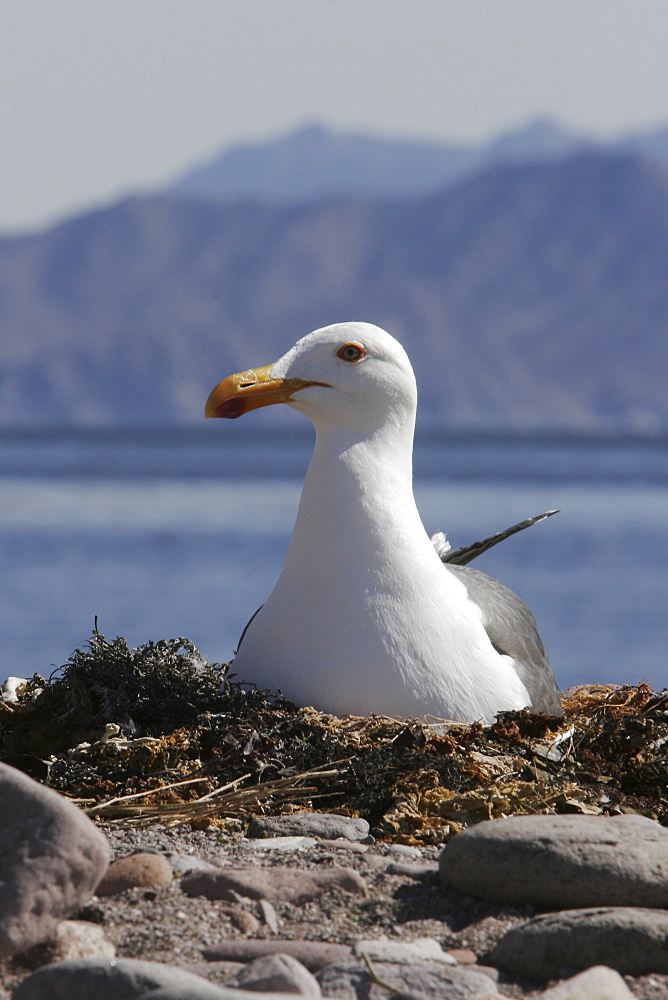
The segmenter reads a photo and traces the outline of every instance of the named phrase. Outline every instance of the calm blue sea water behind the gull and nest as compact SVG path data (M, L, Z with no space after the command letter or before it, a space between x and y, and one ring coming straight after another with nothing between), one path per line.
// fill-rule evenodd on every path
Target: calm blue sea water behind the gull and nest
M48 676L96 616L132 645L187 636L229 660L280 571L311 445L227 421L0 434L0 680ZM421 430L415 491L453 547L559 508L475 565L532 608L562 688L668 683L668 440Z

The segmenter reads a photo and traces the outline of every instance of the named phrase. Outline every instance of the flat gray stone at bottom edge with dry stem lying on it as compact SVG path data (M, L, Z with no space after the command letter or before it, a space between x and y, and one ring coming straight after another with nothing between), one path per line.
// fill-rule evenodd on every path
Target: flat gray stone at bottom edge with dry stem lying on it
M372 960L373 973L395 993L423 1000L490 1000L499 996L496 983L472 967L448 965L438 959L408 964ZM324 966L316 976L323 995L339 1000L386 1000L387 988L373 980L367 964L353 957Z

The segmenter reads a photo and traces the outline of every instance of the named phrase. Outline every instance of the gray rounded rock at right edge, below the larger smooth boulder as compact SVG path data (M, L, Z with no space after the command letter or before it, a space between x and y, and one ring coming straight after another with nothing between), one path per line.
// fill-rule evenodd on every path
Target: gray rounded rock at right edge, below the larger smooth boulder
M490 962L545 982L591 965L624 975L668 973L668 913L617 906L545 913L511 928Z

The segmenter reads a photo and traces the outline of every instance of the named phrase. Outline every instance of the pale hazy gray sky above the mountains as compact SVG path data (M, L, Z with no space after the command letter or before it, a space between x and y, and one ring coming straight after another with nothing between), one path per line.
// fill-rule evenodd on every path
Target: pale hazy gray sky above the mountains
M473 142L668 125L668 0L7 0L0 231L307 122Z

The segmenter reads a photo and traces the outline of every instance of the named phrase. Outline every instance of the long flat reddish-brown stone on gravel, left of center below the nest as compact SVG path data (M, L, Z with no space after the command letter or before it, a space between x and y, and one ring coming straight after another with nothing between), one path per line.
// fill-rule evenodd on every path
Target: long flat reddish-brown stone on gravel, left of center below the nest
M343 889L367 896L364 880L353 868L220 868L184 875L181 888L188 896L206 899L234 899L231 893L249 899L269 899L300 905L317 899L323 892Z

